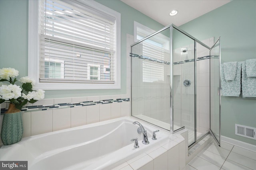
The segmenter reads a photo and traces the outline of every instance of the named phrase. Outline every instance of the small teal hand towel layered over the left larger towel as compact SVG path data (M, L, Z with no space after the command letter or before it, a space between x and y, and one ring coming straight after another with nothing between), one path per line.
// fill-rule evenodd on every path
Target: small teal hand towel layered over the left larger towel
M224 76L226 81L234 80L236 77L237 62L223 63Z

